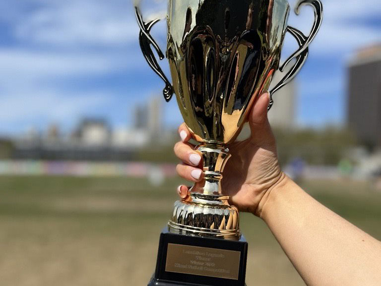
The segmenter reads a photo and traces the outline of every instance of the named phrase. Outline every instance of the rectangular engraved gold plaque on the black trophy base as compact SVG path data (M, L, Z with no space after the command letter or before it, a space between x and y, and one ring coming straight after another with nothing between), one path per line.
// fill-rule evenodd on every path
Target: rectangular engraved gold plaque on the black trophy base
M168 243L165 271L238 280L240 251Z

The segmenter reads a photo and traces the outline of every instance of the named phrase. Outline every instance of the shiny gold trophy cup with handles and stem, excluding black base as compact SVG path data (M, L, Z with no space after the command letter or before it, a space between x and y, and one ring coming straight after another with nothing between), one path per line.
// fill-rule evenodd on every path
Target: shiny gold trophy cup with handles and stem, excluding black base
M149 65L164 80L165 99L173 92L196 148L203 157L203 180L190 190L187 201L175 203L170 231L190 235L238 239L238 210L228 203L220 180L232 143L247 120L255 99L270 85L279 68L286 32L299 49L280 67L292 67L270 91L287 84L308 56L308 46L321 24L319 0L300 0L295 8L311 5L315 22L309 36L287 25L287 0L169 0L166 56L172 85L158 65L152 48L163 53L149 34L156 20L145 23L136 7L140 47Z

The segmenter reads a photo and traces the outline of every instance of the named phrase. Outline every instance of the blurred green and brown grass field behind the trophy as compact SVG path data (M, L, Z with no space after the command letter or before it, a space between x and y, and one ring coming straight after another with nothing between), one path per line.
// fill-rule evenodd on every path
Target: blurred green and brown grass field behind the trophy
M1 286L144 286L179 180L0 176ZM367 183L304 182L315 198L381 239L381 193ZM264 223L241 215L247 284L303 281Z

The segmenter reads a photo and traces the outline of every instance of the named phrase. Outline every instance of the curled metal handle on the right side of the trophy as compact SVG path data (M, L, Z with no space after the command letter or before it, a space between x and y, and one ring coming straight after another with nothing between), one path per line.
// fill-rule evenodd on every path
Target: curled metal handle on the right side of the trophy
M299 8L302 5L311 5L314 8L315 11L315 20L314 25L311 29L311 33L308 37L306 37L301 31L298 29L295 29L291 26L287 26L286 32L289 32L296 41L299 44L299 49L292 54L289 58L286 59L286 61L279 67L280 71L283 71L290 63L291 60L296 58L296 61L292 68L287 72L287 74L282 78L282 80L272 89L270 90L270 103L267 107L267 110L270 110L272 105L274 104L274 101L272 99L272 95L281 89L283 86L288 84L300 71L304 63L306 62L307 56L308 56L308 46L311 44L311 42L314 40L316 34L318 33L318 30L321 25L322 15L323 15L323 6L320 2L320 0L300 0L296 7L295 7L295 14L299 15Z

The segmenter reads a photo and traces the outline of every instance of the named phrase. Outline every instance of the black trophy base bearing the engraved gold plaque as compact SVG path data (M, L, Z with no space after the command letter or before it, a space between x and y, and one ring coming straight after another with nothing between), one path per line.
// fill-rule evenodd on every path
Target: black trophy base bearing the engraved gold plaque
M160 234L156 270L148 286L245 286L248 243Z

